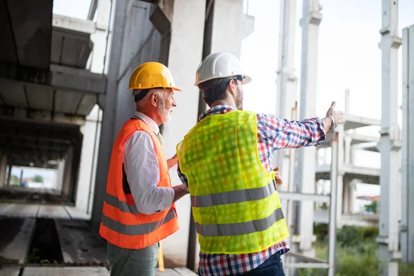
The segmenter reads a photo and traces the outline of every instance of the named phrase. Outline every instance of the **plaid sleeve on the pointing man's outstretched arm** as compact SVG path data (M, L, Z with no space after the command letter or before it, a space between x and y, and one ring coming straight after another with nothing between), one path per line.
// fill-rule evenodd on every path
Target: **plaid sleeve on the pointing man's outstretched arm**
M319 146L326 139L322 119L288 121L273 115L257 115L259 128L264 128L273 140L273 149ZM260 126L262 125L262 126Z

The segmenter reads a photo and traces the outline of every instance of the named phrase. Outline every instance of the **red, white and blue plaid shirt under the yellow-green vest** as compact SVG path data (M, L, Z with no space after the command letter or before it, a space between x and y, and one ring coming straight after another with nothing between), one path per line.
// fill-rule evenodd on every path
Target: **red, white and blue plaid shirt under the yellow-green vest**
M204 112L199 120L209 115L225 114L237 110L235 106L219 105ZM257 114L257 148L260 161L268 172L273 170L272 154L281 148L299 148L319 146L326 137L326 130L319 118L304 121L288 121L273 115ZM179 178L188 185L186 176L177 169ZM266 261L268 257L280 251L287 253L286 240L270 246L261 252L240 255L199 254L199 273L201 275L240 275L247 273Z

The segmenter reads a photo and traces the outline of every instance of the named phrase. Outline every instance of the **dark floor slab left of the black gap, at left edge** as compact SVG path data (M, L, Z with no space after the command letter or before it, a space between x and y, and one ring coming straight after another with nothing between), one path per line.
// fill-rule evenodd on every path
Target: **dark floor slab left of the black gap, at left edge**
M23 264L36 219L0 219L0 259Z

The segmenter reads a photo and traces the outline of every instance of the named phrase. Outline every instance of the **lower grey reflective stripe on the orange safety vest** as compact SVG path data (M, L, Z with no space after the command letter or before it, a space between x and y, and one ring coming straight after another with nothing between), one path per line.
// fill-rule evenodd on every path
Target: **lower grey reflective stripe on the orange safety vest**
M127 224L121 224L119 221L115 221L113 219L110 219L109 217L106 217L106 215L102 214L101 222L104 226L110 228L110 230L113 230L117 233L121 233L123 235L144 235L149 234L157 230L162 225L166 224L171 219L175 218L175 211L173 209L170 209L167 213L167 215L161 219L160 221L154 221L147 224L138 224L138 225L127 225Z

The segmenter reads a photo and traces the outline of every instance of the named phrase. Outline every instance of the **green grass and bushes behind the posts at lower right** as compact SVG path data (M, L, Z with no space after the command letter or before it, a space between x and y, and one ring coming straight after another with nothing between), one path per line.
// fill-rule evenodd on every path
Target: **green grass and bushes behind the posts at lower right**
M314 228L316 257L328 259L328 226ZM384 264L377 259L377 227L347 227L337 231L335 276L377 276ZM326 276L326 269L299 269L299 276ZM414 264L400 264L400 276L414 276Z

